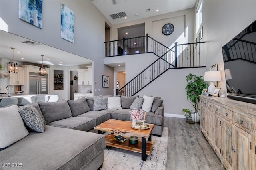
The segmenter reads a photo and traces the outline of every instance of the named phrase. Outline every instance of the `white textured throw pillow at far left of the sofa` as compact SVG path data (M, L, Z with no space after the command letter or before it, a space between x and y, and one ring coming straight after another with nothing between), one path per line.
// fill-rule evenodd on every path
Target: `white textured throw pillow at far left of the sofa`
M28 134L17 105L0 108L0 148L6 148Z

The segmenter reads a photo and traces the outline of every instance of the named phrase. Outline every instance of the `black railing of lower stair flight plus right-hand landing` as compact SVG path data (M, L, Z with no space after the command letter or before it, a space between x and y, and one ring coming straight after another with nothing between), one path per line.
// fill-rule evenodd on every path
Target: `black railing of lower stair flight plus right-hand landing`
M133 96L144 87L152 83L156 78L165 73L168 69L205 67L202 55L205 42L177 44L169 49L154 63L149 65L134 79L118 90L117 95Z

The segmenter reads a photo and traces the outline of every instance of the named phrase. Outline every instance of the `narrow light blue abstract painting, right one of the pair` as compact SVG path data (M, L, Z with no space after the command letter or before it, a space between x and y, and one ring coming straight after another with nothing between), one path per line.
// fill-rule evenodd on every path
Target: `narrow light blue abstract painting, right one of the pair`
M74 12L61 4L61 38L74 43Z

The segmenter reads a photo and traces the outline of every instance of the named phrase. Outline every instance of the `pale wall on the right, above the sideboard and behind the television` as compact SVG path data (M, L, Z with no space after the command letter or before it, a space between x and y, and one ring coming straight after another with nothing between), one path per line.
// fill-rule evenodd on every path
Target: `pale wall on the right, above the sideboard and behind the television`
M203 38L206 41L204 55L206 71L218 64L222 81L221 91L226 91L222 47L256 19L256 1L252 0L204 0Z

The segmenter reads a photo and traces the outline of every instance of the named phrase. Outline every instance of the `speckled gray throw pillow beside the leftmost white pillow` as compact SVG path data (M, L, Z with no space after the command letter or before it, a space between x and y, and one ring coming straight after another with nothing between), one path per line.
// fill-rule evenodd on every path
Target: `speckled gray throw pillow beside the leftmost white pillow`
M40 113L32 105L19 107L18 111L25 124L32 130L42 133L44 132L44 120Z

